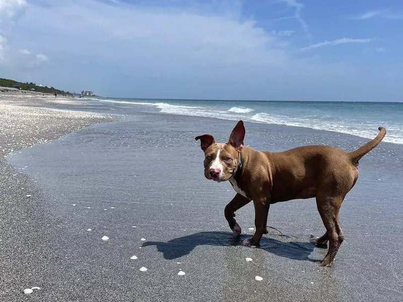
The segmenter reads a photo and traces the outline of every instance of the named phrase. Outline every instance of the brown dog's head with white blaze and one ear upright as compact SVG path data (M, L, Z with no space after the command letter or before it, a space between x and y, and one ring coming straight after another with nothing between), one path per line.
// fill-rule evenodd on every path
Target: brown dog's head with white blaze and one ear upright
M205 176L217 182L229 180L238 169L239 153L243 148L245 127L239 121L226 143L218 143L211 134L196 136L205 152Z

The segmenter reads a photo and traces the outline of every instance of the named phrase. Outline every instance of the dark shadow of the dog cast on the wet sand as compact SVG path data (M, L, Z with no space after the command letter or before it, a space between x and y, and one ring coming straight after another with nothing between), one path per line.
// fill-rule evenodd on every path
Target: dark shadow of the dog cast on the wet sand
M172 260L189 254L196 246L237 246L248 237L250 236L236 236L230 232L199 232L168 242L145 242L143 247L156 246L165 259ZM262 237L258 248L293 260L318 261L308 258L315 247L307 242L282 242Z

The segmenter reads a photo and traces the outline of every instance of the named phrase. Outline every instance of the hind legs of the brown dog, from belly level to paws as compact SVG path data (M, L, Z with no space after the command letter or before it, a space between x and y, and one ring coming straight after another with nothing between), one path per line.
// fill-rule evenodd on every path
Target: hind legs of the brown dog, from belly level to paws
M320 195L316 197L320 217L326 228L325 235L320 237L317 241L318 243L325 243L326 240L329 241L329 249L320 264L321 266L329 266L332 263L334 256L337 254L344 240L339 222L339 210L343 199L344 197L327 197Z

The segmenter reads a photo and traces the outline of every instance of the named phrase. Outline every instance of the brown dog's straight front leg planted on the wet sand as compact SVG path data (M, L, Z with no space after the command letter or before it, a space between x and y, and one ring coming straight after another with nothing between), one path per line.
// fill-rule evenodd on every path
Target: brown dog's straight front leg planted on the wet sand
M252 238L246 239L242 242L242 245L256 246L259 244L260 239L266 230L268 207L270 206L270 199L265 197L258 197L253 199L253 205L255 208L255 234Z

